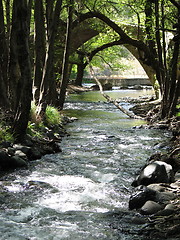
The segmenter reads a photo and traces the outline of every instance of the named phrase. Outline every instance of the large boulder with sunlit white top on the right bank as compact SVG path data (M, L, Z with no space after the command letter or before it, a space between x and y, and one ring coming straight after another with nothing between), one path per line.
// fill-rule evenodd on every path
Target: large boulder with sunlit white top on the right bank
M163 161L154 161L145 166L132 186L148 186L152 183L171 183L174 181L172 166Z

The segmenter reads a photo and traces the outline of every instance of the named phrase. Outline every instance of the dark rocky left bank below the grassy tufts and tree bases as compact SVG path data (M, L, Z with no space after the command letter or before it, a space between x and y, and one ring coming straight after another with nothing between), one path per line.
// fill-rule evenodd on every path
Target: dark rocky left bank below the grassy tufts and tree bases
M74 119L62 115L61 122L56 125L34 128L27 134L23 142L2 141L0 143L0 176L17 168L28 168L31 161L40 159L46 154L61 152L62 138L68 133L64 126Z

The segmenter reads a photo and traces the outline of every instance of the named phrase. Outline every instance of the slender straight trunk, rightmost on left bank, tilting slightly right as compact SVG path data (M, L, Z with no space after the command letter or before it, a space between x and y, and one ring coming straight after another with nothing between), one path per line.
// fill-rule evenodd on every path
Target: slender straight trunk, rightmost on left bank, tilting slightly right
M73 0L70 0L69 7L68 7L66 44L65 44L64 58L63 58L62 80L60 85L60 96L59 96L60 109L63 109L65 96L66 96L66 88L68 85L68 65L69 65L69 55L70 55L70 40L71 40L71 32L72 32L72 17L73 17Z

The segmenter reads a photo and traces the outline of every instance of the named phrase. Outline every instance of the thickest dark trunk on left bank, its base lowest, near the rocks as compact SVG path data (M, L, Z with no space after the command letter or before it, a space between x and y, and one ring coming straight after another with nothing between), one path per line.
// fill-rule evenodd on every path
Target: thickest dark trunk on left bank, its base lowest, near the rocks
M12 36L14 44L14 57L18 65L19 78L14 83L16 91L16 106L14 116L14 135L18 141L22 141L26 134L32 99L31 64L29 55L29 26L27 22L27 1L14 0ZM13 79L11 78L11 81Z

